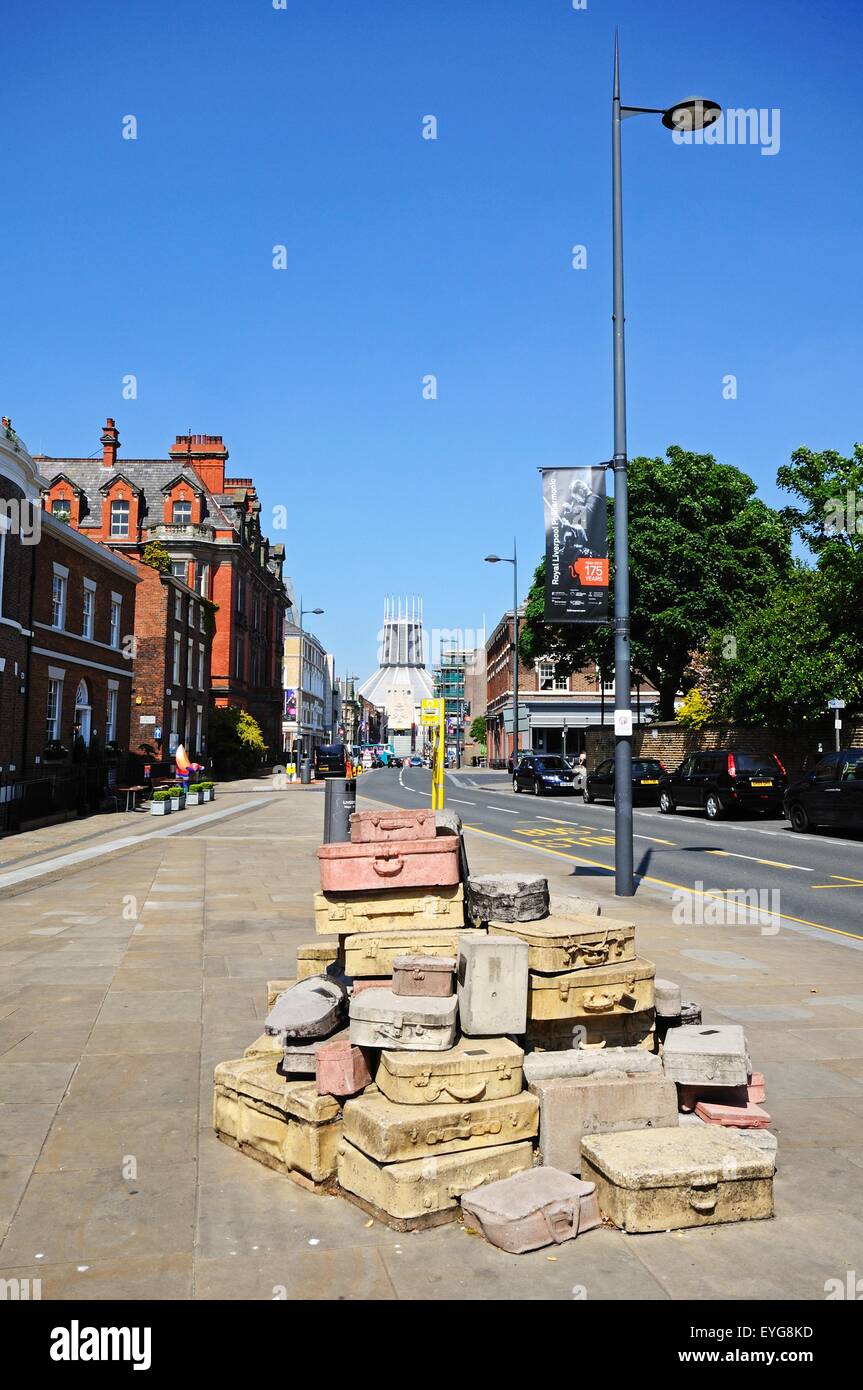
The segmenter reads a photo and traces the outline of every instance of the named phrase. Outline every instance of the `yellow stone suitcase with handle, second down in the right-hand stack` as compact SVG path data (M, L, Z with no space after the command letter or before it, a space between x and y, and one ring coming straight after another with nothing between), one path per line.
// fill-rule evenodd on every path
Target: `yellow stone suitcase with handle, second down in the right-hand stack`
M528 1019L599 1019L653 1008L656 966L643 956L566 974L528 976Z

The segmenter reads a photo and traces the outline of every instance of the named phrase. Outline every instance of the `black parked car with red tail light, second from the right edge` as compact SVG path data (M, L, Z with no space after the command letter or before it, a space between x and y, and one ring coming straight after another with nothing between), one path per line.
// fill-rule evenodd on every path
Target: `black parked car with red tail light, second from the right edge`
M664 773L659 809L696 806L709 820L731 810L782 813L788 778L775 753L745 753L738 748L689 753L673 773Z

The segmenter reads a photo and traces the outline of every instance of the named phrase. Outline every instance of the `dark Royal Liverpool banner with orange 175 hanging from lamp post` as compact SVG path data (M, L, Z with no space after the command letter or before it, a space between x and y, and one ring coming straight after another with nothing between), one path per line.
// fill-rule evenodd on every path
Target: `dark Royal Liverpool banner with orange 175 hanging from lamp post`
M609 617L609 517L605 468L542 468L545 621Z

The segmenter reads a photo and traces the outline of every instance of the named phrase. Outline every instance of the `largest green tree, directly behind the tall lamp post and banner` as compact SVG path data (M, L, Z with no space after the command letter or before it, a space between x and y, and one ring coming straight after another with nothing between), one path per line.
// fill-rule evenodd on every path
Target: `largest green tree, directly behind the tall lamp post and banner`
M613 555L614 503L609 499ZM611 564L611 584L613 564ZM791 571L791 524L756 496L739 468L678 445L630 464L630 602L632 673L659 691L660 719L696 682L693 656L713 630L762 603ZM614 674L609 626L546 624L545 560L527 600L521 656L548 656L563 671L596 662Z

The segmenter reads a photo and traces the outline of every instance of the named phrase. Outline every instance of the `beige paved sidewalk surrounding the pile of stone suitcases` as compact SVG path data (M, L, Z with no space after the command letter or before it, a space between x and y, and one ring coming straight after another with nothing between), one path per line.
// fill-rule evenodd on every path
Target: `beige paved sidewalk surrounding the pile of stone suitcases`
M40 1279L47 1300L819 1300L863 1268L859 952L678 927L646 894L632 906L639 954L707 1020L743 1023L766 1072L774 1220L599 1230L507 1257L457 1225L397 1236L220 1144L213 1068L260 1033L265 981L292 976L314 938L322 798L258 787L3 901L0 1277ZM35 858L75 848L43 842ZM568 865L528 848L468 833L468 853L477 870L542 862L556 890L574 887ZM603 910L627 915L611 898Z

